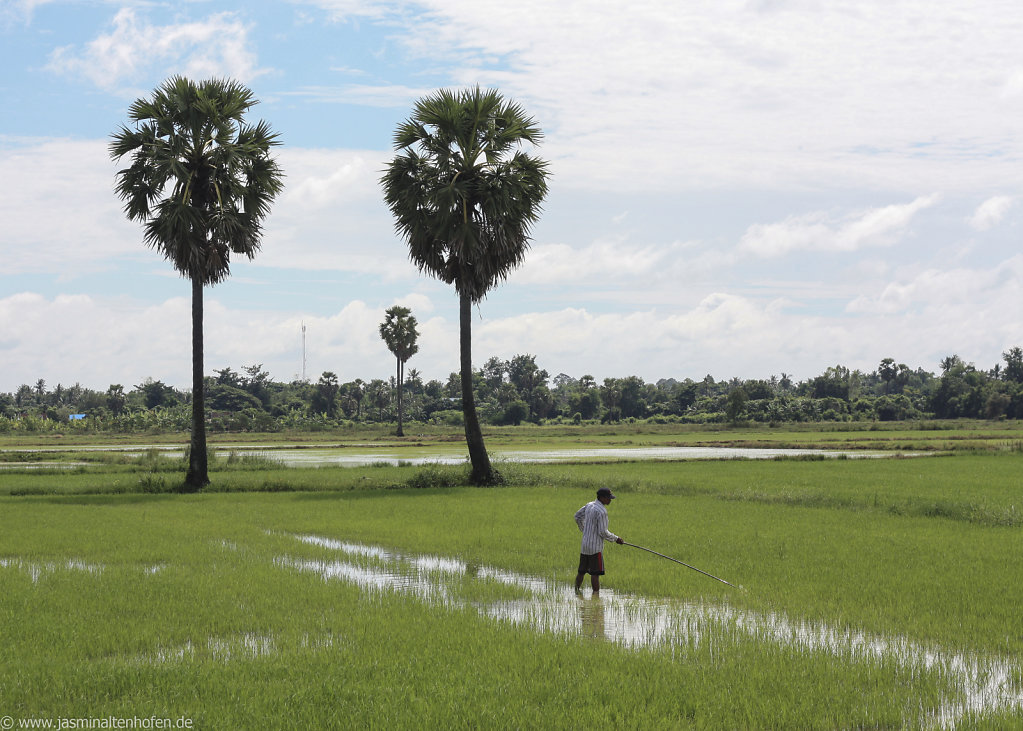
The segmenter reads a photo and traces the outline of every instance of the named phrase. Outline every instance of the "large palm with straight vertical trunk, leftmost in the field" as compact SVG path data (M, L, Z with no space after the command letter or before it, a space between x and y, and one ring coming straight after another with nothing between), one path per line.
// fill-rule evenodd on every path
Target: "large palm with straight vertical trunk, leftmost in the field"
M191 280L192 428L185 485L209 485L203 392L203 287L230 274L231 253L252 259L263 219L283 187L270 156L279 144L265 122L250 125L252 91L230 80L168 79L129 108L131 127L113 135L110 156L130 155L116 191L143 240Z

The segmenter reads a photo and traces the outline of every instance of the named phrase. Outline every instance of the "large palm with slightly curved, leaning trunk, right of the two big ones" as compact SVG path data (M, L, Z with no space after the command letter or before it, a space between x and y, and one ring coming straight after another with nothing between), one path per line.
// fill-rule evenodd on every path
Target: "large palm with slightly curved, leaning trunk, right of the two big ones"
M382 183L409 258L458 294L461 405L478 485L498 478L473 397L472 306L519 266L547 194L547 164L520 149L543 133L495 90L419 99L394 135Z

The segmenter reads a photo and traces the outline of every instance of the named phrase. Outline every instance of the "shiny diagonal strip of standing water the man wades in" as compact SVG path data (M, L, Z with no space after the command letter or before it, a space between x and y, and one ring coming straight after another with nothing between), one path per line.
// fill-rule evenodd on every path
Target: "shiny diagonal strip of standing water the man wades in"
M324 581L342 581L369 592L394 592L427 604L474 608L482 616L531 628L537 632L589 637L629 648L678 647L701 642L754 641L801 652L826 653L840 661L896 663L909 670L938 673L955 692L922 719L907 724L955 728L966 714L1023 710L1023 689L1014 678L1019 663L989 655L949 652L926 647L903 637L882 637L848 629L810 624L774 612L740 609L587 588L553 579L477 565L443 556L415 555L312 535L296 541L338 554L337 558L279 556L281 568L311 572ZM498 601L459 598L465 582L499 584L521 596Z

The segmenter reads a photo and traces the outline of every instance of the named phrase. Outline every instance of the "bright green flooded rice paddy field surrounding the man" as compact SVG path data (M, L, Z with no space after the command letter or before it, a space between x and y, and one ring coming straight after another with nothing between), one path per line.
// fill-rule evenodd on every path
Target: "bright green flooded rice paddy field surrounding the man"
M1023 728L1019 432L888 436L931 456L507 462L487 489L227 457L197 495L159 452L0 445L0 725ZM766 439L553 440L597 438ZM605 485L612 531L741 588L609 545L577 596Z

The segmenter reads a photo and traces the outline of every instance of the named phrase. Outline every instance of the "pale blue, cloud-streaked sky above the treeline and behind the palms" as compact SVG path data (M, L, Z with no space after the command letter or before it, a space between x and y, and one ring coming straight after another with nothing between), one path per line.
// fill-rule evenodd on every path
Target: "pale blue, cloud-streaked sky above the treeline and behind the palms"
M477 367L989 369L1023 345L1021 37L1016 0L0 0L0 392L190 384L189 283L107 153L173 75L246 84L282 140L260 253L206 290L210 375L387 378L393 305L409 368L458 369L455 292L380 177L416 99L474 85L537 121L551 172Z

